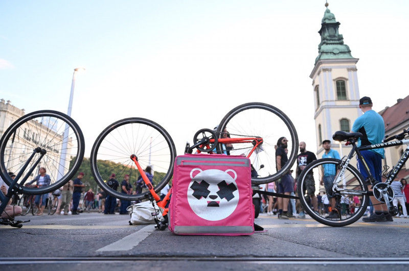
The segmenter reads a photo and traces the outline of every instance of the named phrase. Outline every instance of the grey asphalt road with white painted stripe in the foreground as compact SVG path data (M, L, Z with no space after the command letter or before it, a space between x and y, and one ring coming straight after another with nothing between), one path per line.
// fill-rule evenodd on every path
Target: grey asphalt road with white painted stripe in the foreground
M43 215L0 226L0 269L406 270L409 219L332 228L310 218L261 214L251 236L176 236L128 215Z

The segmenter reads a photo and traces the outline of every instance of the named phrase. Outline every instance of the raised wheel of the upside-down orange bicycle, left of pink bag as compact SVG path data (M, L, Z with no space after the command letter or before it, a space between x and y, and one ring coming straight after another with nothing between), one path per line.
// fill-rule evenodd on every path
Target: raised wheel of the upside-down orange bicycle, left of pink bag
M120 186L125 175L133 185L140 174L130 156L137 156L143 169L153 169L153 186L158 193L173 175L175 145L166 130L145 118L125 118L108 126L97 138L91 151L91 170L98 185L111 196L135 201L147 198L147 193L124 194L113 190L105 182L116 174Z

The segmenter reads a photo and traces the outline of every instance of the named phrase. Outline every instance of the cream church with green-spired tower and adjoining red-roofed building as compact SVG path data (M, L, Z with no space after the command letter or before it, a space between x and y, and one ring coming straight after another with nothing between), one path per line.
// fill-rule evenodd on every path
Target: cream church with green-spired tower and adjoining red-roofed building
M356 68L359 59L352 57L349 46L344 44L343 35L338 31L339 24L327 7L319 31L319 55L310 74L318 159L322 158L325 152L322 141L326 139L331 140L331 149L338 151L340 157L347 155L351 146L345 146L344 142L334 142L332 135L336 131L350 132L355 119L362 115L359 109ZM399 99L396 105L385 108L379 114L385 122L385 134L394 135L409 128L409 96ZM386 148L383 165L391 169L399 161L406 147L401 145ZM356 166L356 160L352 165ZM409 168L409 162L406 162L404 170L401 170L397 178L409 177L409 170L406 168Z

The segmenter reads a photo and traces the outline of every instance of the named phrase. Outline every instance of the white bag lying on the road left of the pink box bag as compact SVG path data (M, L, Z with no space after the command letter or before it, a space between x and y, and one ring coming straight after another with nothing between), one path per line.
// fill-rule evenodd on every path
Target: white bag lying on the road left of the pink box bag
M161 220L162 213L156 203L154 205L155 207L153 208L152 203L147 201L129 206L126 209L131 214L129 225L155 224L155 217Z

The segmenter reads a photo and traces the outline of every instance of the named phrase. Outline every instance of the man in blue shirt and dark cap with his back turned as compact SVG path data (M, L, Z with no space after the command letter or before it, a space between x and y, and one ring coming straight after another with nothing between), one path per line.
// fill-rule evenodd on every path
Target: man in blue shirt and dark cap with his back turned
M362 110L363 115L358 117L351 132L359 132L362 137L358 140L357 146L367 146L373 144L379 144L382 142L385 136L385 124L383 118L377 112L372 110L372 100L370 97L362 97L359 100L359 108ZM385 151L383 149L360 151L363 160L368 165L368 169L371 175L375 178L375 183L382 182L382 159L384 158ZM363 164L358 160L358 169L362 177L367 179L368 175L363 168ZM372 202L376 202L374 196L370 197ZM382 222L393 221L392 215L388 211L386 204L374 205L375 213L369 217L362 218L365 222Z

